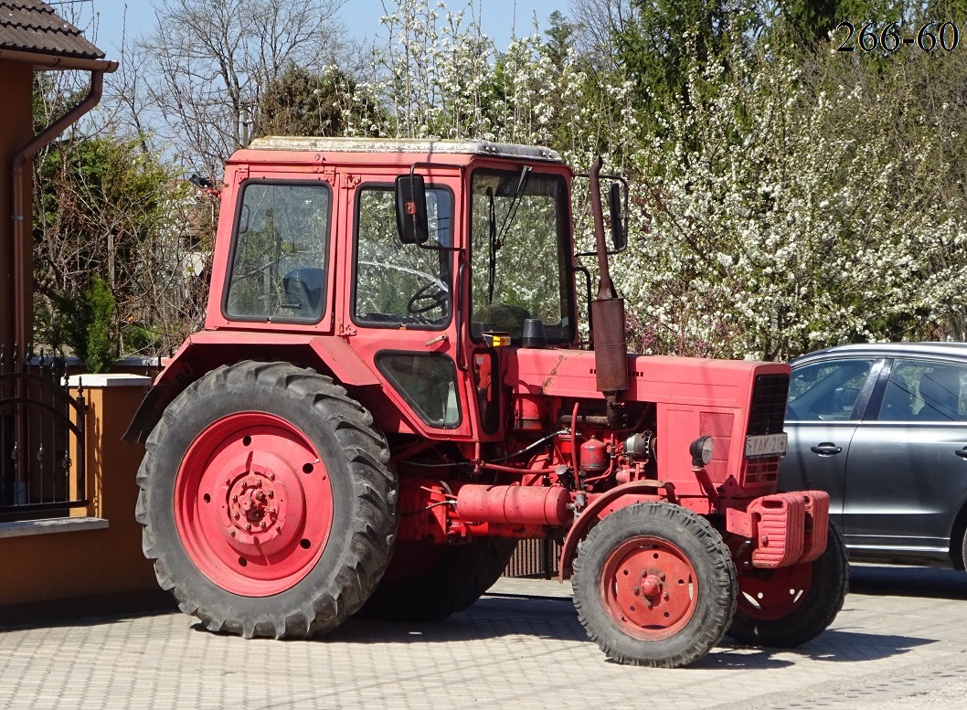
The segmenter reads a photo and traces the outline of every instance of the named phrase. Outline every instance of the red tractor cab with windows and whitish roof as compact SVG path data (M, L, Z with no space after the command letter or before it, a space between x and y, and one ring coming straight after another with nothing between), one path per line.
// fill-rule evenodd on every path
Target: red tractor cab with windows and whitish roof
M571 169L482 141L373 148L264 138L232 158L208 337L340 340L368 372L346 384L378 381L380 429L502 440L500 350L579 344Z

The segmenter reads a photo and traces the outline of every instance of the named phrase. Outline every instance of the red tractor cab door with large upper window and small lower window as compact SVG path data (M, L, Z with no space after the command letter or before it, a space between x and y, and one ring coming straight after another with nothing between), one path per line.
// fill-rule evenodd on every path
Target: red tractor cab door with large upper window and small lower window
M457 346L459 175L443 170L425 177L430 237L418 245L399 238L397 174L346 181L352 239L337 332L384 383L393 405L373 407L381 429L469 439L474 412L467 402L475 394Z

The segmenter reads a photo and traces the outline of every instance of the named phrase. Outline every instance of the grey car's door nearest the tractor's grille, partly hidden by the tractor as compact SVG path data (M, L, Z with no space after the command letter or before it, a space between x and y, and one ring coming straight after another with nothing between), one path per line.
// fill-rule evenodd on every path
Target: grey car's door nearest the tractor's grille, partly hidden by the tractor
M874 358L839 358L794 366L786 410L789 446L779 468L782 490L830 494L830 515L840 523L850 444L877 369Z

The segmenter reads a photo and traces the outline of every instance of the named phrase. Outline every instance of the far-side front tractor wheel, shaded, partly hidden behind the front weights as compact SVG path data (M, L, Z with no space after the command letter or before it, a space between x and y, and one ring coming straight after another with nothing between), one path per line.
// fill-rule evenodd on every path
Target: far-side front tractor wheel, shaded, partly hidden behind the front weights
M831 522L826 550L812 562L759 570L740 559L739 604L728 636L754 646L799 646L826 631L848 591L846 546Z

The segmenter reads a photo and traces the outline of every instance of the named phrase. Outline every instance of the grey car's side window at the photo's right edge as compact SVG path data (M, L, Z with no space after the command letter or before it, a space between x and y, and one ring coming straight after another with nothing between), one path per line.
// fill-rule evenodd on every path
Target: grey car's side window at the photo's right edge
M967 368L896 360L880 406L885 422L967 421Z

